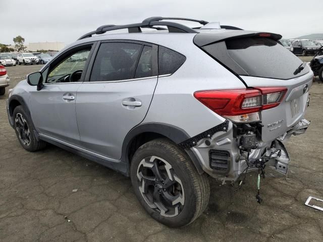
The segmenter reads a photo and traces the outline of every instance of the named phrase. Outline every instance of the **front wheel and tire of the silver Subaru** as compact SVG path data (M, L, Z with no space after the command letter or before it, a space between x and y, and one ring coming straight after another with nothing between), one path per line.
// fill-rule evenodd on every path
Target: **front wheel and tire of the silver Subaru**
M21 146L28 151L37 151L43 149L46 143L42 140L37 141L34 130L35 127L31 121L29 114L19 105L14 110L13 115L14 130Z

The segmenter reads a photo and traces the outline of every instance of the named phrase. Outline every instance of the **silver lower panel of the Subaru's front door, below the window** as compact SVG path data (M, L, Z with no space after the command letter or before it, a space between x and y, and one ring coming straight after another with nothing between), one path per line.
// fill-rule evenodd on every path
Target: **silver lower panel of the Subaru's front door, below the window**
M75 100L65 100L64 95L74 95L82 83L44 84L37 91L30 90L32 119L37 131L73 145L80 144L76 122Z

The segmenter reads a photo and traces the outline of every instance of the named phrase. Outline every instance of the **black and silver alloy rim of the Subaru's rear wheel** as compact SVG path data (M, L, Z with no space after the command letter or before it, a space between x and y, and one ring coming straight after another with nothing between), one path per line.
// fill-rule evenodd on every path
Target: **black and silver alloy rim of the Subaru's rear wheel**
M181 179L166 160L148 156L137 168L139 191L150 208L164 217L177 216L184 207Z

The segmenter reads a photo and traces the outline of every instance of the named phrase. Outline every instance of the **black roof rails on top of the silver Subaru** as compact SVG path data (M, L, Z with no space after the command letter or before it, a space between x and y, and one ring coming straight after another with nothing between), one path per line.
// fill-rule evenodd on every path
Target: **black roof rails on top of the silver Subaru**
M158 26L166 26L170 33L198 33L193 28L185 26L183 24L161 21L161 20L185 20L197 22L202 25L207 24L207 21L204 20L196 20L196 19L187 19L187 18L177 18L177 17L150 17L143 20L141 23L136 24L126 24L126 25L102 25L98 27L96 30L91 31L87 34L82 35L78 40L85 39L91 37L93 34L103 34L107 31L117 30L117 29L128 29L129 33L140 33L141 28L154 28L157 30L166 30L166 28L154 27Z

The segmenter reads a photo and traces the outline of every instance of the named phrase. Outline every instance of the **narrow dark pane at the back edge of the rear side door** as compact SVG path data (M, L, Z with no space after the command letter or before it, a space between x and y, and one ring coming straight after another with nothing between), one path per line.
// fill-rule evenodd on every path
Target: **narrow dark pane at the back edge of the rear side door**
M135 78L151 77L152 70L152 47L145 45L139 58Z

